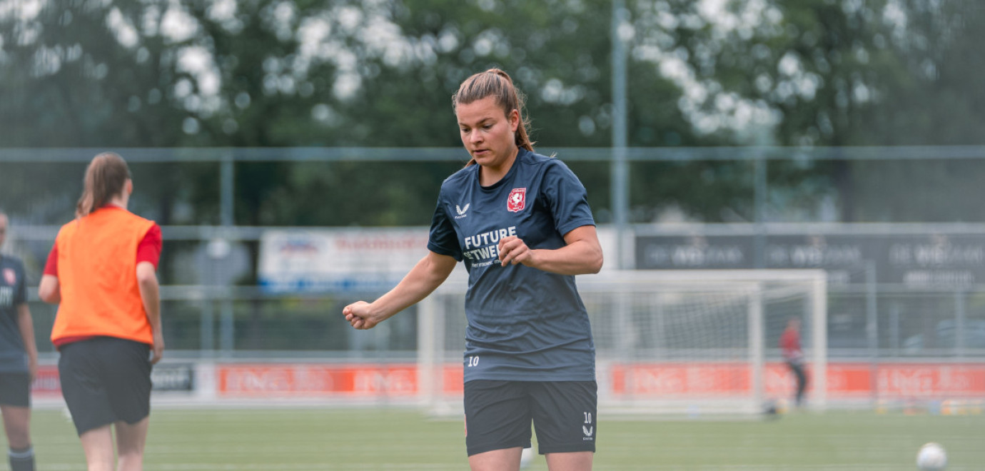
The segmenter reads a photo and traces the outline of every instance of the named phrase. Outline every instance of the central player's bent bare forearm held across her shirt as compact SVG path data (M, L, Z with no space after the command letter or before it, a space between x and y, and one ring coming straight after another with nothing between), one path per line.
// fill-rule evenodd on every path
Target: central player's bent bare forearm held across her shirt
M587 275L602 269L602 245L595 226L571 230L564 235L564 246L558 249L532 249L517 236L503 237L498 249L503 266L522 263L559 275Z

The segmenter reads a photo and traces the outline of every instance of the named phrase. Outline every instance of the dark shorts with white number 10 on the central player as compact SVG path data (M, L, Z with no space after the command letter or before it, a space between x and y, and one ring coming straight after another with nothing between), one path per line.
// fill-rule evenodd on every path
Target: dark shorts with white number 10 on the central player
M541 454L595 451L595 381L465 383L465 444L469 456L530 446L530 424Z

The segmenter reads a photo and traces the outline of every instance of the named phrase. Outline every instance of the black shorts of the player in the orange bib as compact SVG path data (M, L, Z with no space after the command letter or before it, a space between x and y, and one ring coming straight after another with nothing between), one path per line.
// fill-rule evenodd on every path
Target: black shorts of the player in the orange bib
M96 337L61 347L62 395L81 436L107 424L136 424L151 413L151 347Z

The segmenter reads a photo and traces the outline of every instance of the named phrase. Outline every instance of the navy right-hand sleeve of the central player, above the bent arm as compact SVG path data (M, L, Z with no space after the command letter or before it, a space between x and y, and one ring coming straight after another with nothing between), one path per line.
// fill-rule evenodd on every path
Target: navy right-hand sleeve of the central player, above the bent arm
M555 228L562 236L582 226L595 226L588 192L581 180L563 162L554 160L544 173L542 197L554 215Z

